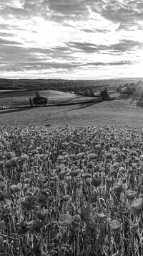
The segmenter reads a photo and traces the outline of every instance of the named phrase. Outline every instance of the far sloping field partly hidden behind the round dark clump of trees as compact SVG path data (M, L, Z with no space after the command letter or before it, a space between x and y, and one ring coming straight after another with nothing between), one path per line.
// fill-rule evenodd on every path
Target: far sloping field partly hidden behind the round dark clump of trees
M39 91L40 95L49 99L50 104L87 101L87 97L61 91ZM0 107L29 106L29 97L34 97L35 91L14 91L0 93ZM90 98L92 99L92 98Z

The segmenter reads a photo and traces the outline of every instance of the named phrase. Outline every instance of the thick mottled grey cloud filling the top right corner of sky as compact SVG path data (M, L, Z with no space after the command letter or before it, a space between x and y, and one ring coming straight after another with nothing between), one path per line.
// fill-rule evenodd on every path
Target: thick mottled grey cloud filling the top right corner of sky
M142 29L138 23L143 21L143 2L141 0L87 0L94 14L119 24L119 29Z

